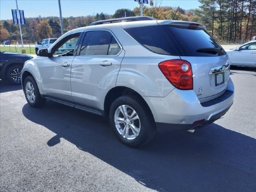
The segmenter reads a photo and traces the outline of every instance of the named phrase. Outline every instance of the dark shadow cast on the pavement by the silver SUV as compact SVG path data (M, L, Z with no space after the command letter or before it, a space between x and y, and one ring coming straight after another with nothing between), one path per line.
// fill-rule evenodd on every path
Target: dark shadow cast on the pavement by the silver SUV
M118 142L103 117L52 101L41 109L26 104L22 112L56 134L45 145L61 145L60 138L66 139L148 188L255 191L256 139L217 124L194 134L158 133L148 145L133 149Z

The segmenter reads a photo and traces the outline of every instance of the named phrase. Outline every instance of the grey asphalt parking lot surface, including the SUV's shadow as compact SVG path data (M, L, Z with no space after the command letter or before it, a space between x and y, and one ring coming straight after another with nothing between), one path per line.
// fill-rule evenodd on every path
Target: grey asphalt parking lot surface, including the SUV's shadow
M132 149L99 116L47 101L29 107L0 81L1 191L256 191L256 72L233 68L223 119L194 134L158 133Z

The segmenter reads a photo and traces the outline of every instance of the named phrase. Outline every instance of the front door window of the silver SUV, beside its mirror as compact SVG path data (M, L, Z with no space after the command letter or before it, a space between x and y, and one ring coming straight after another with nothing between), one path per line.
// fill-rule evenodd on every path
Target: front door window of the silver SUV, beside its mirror
M81 33L75 33L65 37L65 39L61 40L57 47L54 48L53 55L54 56L73 56L74 49L76 44L78 43L79 36Z

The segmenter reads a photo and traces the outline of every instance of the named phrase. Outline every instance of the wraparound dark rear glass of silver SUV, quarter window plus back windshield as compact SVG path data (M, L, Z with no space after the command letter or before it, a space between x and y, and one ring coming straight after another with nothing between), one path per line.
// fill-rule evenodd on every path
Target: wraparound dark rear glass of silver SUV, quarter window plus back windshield
M162 55L213 57L226 54L213 37L201 28L151 25L124 30L152 52Z

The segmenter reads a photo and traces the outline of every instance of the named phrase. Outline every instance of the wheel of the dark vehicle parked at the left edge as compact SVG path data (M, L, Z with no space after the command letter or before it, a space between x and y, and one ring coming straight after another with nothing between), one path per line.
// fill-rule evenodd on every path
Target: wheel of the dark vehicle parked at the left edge
M6 77L5 79L8 80L10 83L15 84L15 85L20 85L21 84L21 70L23 66L22 65L13 65L7 68L6 70Z

